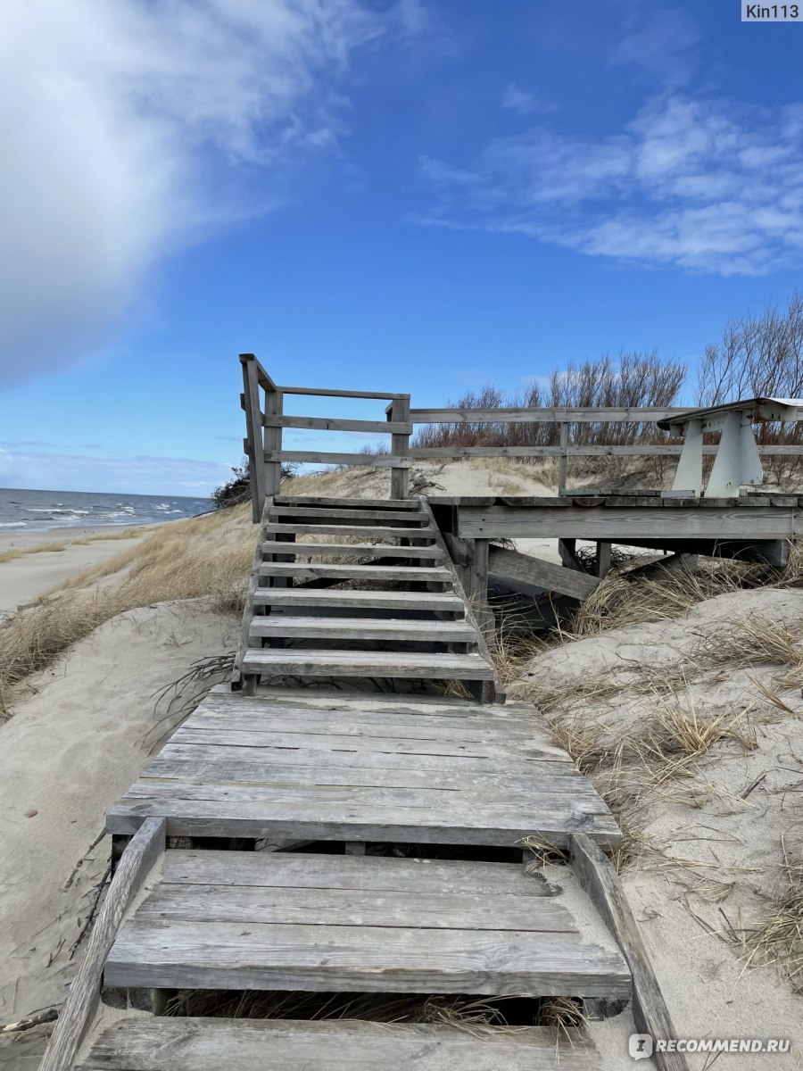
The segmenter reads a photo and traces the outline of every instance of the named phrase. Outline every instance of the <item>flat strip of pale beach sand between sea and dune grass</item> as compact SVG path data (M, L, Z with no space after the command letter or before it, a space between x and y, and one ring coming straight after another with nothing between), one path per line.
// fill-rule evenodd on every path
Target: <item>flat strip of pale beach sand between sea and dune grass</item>
M175 524L176 522L165 522ZM121 538L121 528L127 533ZM29 550L43 543L61 543L63 549L22 554L0 561L0 619L19 606L34 602L50 588L63 584L82 569L96 565L145 539L153 525L115 525L51 528L48 531L0 532L0 555L5 550ZM103 537L108 533L108 539ZM84 542L91 539L91 542Z

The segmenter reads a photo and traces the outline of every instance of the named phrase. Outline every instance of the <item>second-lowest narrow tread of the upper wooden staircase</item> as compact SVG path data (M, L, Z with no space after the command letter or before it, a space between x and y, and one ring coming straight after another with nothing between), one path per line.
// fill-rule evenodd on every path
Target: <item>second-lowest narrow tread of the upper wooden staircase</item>
M410 621L394 618L289 617L258 615L252 636L284 636L289 639L375 639L387 643L475 644L476 632L465 621Z

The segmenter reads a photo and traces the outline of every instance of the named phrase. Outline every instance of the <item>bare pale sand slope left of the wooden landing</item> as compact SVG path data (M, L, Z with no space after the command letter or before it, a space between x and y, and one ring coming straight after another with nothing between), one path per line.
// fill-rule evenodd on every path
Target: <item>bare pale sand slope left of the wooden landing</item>
M154 693L233 650L238 628L199 600L130 610L32 678L0 727L0 1022L63 1000L109 839L88 849L169 725L156 724ZM35 1034L0 1041L0 1067L34 1068Z

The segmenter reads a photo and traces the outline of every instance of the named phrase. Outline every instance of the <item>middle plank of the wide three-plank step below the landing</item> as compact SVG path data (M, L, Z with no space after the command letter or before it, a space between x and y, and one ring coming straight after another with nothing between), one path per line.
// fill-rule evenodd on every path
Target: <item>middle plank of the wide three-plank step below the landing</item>
M355 858L355 856L344 857ZM274 925L408 926L411 930L526 930L578 932L574 919L551 896L506 896L458 892L425 893L411 888L286 888L228 885L160 885L137 908L138 922L252 922Z

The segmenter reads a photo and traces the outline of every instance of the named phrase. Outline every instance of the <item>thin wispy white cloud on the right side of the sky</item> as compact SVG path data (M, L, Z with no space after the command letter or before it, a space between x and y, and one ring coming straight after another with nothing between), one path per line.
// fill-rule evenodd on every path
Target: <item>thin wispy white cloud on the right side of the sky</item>
M789 267L803 261L802 115L673 94L608 137L536 127L469 167L422 162L420 222L722 275Z

